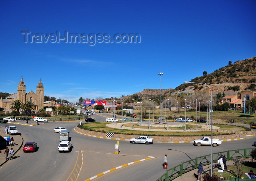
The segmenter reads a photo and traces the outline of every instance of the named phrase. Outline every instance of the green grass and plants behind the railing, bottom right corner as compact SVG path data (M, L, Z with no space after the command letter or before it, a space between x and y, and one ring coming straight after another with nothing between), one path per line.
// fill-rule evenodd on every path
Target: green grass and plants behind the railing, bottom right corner
M237 169L236 169L236 166L233 164L233 165L228 165L227 166L227 169L228 170L233 170L234 173L237 174ZM242 165L242 177L244 178L248 178L245 173L249 173L249 171L252 170L253 173L256 173L256 163L255 162L244 162L243 165ZM223 177L225 178L226 180L231 180L231 179L234 179L236 176L231 173L231 172L227 172L227 171L224 171L223 173L222 172L218 172L218 171L214 171L214 174L217 175L218 177Z

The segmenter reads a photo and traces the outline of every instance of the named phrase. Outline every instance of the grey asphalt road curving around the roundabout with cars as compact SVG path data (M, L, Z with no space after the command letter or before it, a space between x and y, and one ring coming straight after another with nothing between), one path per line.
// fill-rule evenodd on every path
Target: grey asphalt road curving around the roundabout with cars
M96 121L105 121L107 114L97 114ZM74 131L78 122L49 122L39 126L16 125L24 138L24 142L34 141L38 145L35 153L17 152L17 157L4 164L0 169L1 181L84 181L107 170L154 157L113 170L95 178L99 181L107 180L140 180L154 181L166 172L162 168L163 157L167 154L168 168L181 162L211 153L210 146L193 146L191 143L153 143L152 145L131 144L120 141L120 154L115 152L115 140L95 138ZM59 134L53 133L57 126L64 126L69 130L69 137L73 145L70 153L59 153ZM213 147L213 152L253 147L254 137L238 141L226 141L222 145Z

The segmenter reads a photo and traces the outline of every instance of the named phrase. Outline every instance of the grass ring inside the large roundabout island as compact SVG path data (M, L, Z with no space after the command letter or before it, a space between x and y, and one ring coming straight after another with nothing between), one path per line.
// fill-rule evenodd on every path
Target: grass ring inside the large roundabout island
M91 130L91 131L101 131L101 132L112 132L116 134L131 134L131 135L151 135L151 136L206 136L210 135L211 131L200 131L200 132L194 132L194 131L189 131L191 127L195 127L196 125L189 125L187 124L187 131L186 132L181 132L181 131L173 131L173 132L165 132L165 131L136 131L136 130L128 130L128 129L113 129L110 127L106 127L105 125L108 124L106 122L92 122L92 123L84 123L81 128L86 129L86 130ZM111 124L111 123L110 123ZM132 127L132 123L125 124L125 126ZM225 125L216 125L219 127L224 127ZM80 127L80 126L79 126ZM138 126L136 124L133 125L133 127L137 128L145 128L144 126ZM241 130L241 127L238 126L232 126L232 130ZM146 127L147 128L147 127ZM157 127L154 127L154 129ZM151 127L151 129L153 129ZM166 128L158 128L158 129L166 129ZM170 128L169 128L170 129ZM180 129L184 130L184 127L180 128L175 128L175 129ZM213 135L225 135L225 133L219 133L219 132L213 132Z

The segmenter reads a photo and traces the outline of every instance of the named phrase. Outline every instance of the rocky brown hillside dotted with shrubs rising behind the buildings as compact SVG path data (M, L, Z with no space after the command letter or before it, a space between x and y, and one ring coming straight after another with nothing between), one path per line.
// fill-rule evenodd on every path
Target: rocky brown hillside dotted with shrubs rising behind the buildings
M214 72L203 76L196 77L191 82L203 83L211 85L212 93L225 92L226 95L234 95L244 90L255 90L256 83L256 57L240 60L237 62L229 62L228 66L221 67ZM181 84L176 88L162 89L162 94L181 94L196 93L203 86L199 84ZM140 93L136 93L140 98L160 97L160 89L144 89ZM131 95L123 98L131 97Z

